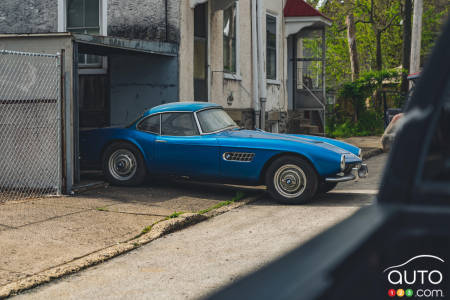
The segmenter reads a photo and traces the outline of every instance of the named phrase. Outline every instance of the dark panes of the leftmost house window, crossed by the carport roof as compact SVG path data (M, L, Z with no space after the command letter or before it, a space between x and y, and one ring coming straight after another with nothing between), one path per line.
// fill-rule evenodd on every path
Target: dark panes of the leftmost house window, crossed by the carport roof
M67 0L66 30L74 33L100 35L100 0ZM102 67L103 58L98 55L78 56L81 68Z

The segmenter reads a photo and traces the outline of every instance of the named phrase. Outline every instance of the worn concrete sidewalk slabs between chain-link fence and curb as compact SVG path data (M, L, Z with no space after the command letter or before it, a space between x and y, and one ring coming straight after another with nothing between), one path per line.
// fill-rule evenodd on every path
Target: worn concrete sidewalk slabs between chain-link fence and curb
M0 205L0 298L11 291L46 282L52 276L58 277L66 272L63 269L67 265L74 265L67 271L70 273L98 263L102 257L131 250L130 247L113 248L127 242L128 246L138 246L135 238L150 231L155 223L171 221L179 212L205 214L229 204L227 201L242 193L251 197L260 191L160 180L146 187L108 187L75 197L3 203ZM113 253L105 255L105 249L113 249ZM90 258L78 267L74 264L95 253L103 256Z

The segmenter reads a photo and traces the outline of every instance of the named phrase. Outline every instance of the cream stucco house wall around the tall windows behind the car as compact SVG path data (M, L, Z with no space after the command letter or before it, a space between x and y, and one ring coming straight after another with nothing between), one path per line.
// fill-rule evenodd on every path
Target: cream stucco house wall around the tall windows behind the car
M287 111L287 44L283 32L283 0L265 0L264 11L278 16L278 56L276 81L267 84L267 111ZM252 93L252 35L251 0L239 0L239 49L240 71L237 78L230 79L223 72L223 11L210 13L209 24L209 80L210 101L221 104L236 118L248 115L253 108ZM194 10L189 0L181 1L180 9L180 98L192 101L194 57ZM265 14L263 17L263 45L265 47ZM265 51L264 51L265 52ZM266 67L264 57L264 68ZM237 112L239 111L239 113ZM247 119L241 120L248 123ZM283 123L283 122L281 122Z

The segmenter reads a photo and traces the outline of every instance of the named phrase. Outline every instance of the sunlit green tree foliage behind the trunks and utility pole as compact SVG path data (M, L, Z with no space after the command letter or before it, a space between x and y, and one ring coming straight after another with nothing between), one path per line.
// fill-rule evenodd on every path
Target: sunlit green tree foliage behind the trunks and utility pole
M333 20L327 30L327 85L337 87L351 80L345 17L355 16L361 73L399 67L402 61L403 0L328 0L321 10ZM424 1L422 54L430 53L441 25L448 16L448 0ZM377 38L380 47L377 48ZM377 50L380 51L377 61ZM379 65L381 63L381 65Z

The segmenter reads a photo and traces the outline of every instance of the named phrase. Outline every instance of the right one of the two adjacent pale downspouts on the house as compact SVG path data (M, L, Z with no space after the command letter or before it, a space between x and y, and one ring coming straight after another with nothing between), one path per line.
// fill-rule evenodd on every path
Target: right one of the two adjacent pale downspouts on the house
M264 44L263 44L263 4L262 0L257 0L257 25L258 25L258 73L259 73L259 103L261 108L261 129L266 129L266 101L267 85L266 71L264 70Z

